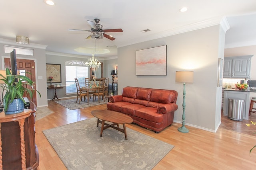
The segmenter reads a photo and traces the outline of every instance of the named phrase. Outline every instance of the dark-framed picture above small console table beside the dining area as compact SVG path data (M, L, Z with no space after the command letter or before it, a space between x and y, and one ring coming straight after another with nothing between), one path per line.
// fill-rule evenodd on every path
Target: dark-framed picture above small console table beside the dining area
M46 78L52 76L52 83L61 83L61 64L46 63ZM50 83L47 81L47 83Z

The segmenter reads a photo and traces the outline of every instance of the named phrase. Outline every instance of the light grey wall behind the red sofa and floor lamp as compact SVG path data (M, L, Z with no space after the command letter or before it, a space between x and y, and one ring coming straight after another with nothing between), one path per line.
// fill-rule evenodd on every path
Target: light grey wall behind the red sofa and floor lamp
M118 48L118 94L126 86L172 89L178 92L174 121L182 121L183 86L175 82L177 70L193 70L194 83L186 85L186 124L216 131L219 25ZM221 34L223 36L223 34ZM135 51L167 45L167 76L136 76ZM154 68L152 68L154 69ZM218 90L216 90L218 89ZM221 94L218 94L218 98ZM218 124L218 122L217 122Z

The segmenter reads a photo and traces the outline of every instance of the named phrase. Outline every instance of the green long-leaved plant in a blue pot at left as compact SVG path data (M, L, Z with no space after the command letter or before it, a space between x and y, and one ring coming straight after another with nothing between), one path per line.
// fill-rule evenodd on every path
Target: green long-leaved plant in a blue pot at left
M1 80L5 83L0 85L5 91L5 95L2 99L5 114L14 114L24 111L24 104L26 104L23 98L24 94L32 98L33 93L35 91L38 92L38 90L32 88L32 80L20 74L12 75L9 68L6 68L6 77L2 74L0 74L0 76L2 77ZM28 88L29 86L31 88ZM40 92L38 92L38 94L41 97Z

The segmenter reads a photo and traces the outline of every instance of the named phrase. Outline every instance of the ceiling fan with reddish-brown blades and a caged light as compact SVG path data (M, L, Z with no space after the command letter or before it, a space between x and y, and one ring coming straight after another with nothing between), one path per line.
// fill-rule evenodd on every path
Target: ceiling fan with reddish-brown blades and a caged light
M93 21L87 20L87 22L90 24L92 27L90 30L84 30L84 29L68 29L68 31L89 31L91 32L91 35L86 37L86 39L102 39L103 37L106 37L110 40L115 40L114 37L107 35L105 33L110 33L110 32L123 32L121 28L118 29L103 29L103 26L99 24L100 19L95 18L94 19L95 23Z

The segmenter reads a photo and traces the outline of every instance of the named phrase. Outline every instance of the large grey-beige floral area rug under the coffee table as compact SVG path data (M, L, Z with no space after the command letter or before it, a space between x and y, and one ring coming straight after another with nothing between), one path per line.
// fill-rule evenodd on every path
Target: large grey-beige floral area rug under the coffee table
M43 133L68 170L151 170L174 148L126 127L108 128L100 137L97 119L44 130Z

